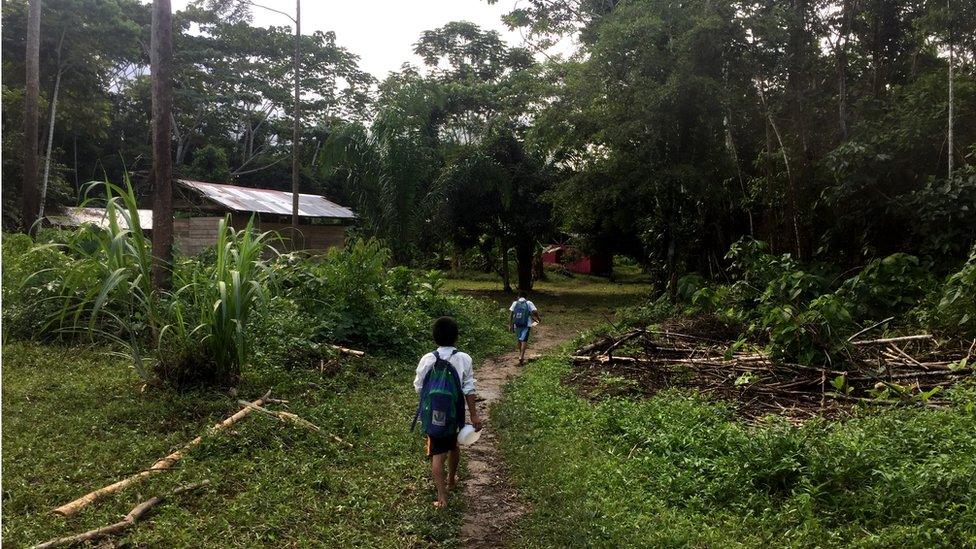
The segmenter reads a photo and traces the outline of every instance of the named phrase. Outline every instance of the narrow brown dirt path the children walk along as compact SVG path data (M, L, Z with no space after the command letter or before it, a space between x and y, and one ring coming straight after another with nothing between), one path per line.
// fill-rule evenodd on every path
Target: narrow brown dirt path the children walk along
M526 358L536 358L572 336L572 332L540 324L532 333ZM485 428L481 439L465 452L468 478L463 483L465 513L461 525L461 540L465 547L503 547L512 523L526 511L508 481L508 471L498 451L498 441L489 418L491 407L501 398L505 383L520 372L515 352L490 358L475 369L479 411Z

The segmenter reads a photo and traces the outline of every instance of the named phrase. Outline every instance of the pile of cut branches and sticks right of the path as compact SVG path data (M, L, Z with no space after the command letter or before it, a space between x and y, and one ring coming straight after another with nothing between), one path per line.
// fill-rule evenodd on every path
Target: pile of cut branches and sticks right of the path
M976 342L968 351L940 344L928 334L855 340L849 342L843 367L817 367L774 361L760 352L730 354L729 343L633 330L578 349L572 357L575 368L564 382L588 397L691 388L733 402L749 419L779 414L798 422L838 415L857 403L945 406L941 388L973 376L973 368L965 365L976 347ZM629 382L615 389L608 375Z

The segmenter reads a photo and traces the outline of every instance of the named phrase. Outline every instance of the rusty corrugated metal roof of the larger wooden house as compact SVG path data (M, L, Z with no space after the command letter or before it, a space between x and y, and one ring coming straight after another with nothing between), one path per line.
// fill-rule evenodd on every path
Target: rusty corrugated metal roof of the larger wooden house
M180 179L184 187L193 189L226 208L237 212L259 212L278 215L291 215L292 194L272 189L252 189L236 185L205 183ZM317 194L298 195L298 215L302 217L332 217L355 219L356 214L349 208L340 206Z

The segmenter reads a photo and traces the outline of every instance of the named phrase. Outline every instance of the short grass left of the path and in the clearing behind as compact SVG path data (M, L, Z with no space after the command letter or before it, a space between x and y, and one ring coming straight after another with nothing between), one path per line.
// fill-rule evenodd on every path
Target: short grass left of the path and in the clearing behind
M450 281L453 291L507 307L510 295L481 284ZM568 330L599 322L645 291L585 278L543 284L533 299L547 322ZM480 361L507 343L465 350ZM143 392L126 361L101 350L4 345L4 545L26 546L109 524L151 496L210 479L201 492L162 504L125 541L154 547L456 546L463 502L455 499L446 514L431 508L421 439L408 432L417 358L353 359L331 376L252 369L239 396L230 397L204 390ZM72 519L50 513L147 468L238 410L238 398L250 400L270 388L288 401L289 411L354 447L254 413L207 439L171 472Z

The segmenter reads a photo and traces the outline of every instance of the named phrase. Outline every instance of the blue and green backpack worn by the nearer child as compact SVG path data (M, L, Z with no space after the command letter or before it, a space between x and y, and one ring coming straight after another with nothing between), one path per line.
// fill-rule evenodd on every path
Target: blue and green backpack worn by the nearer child
M454 350L451 356L457 353ZM450 358L450 357L448 357ZM420 388L420 403L410 430L420 420L424 432L433 438L456 435L464 421L464 395L457 370L434 351L434 367L424 376Z

